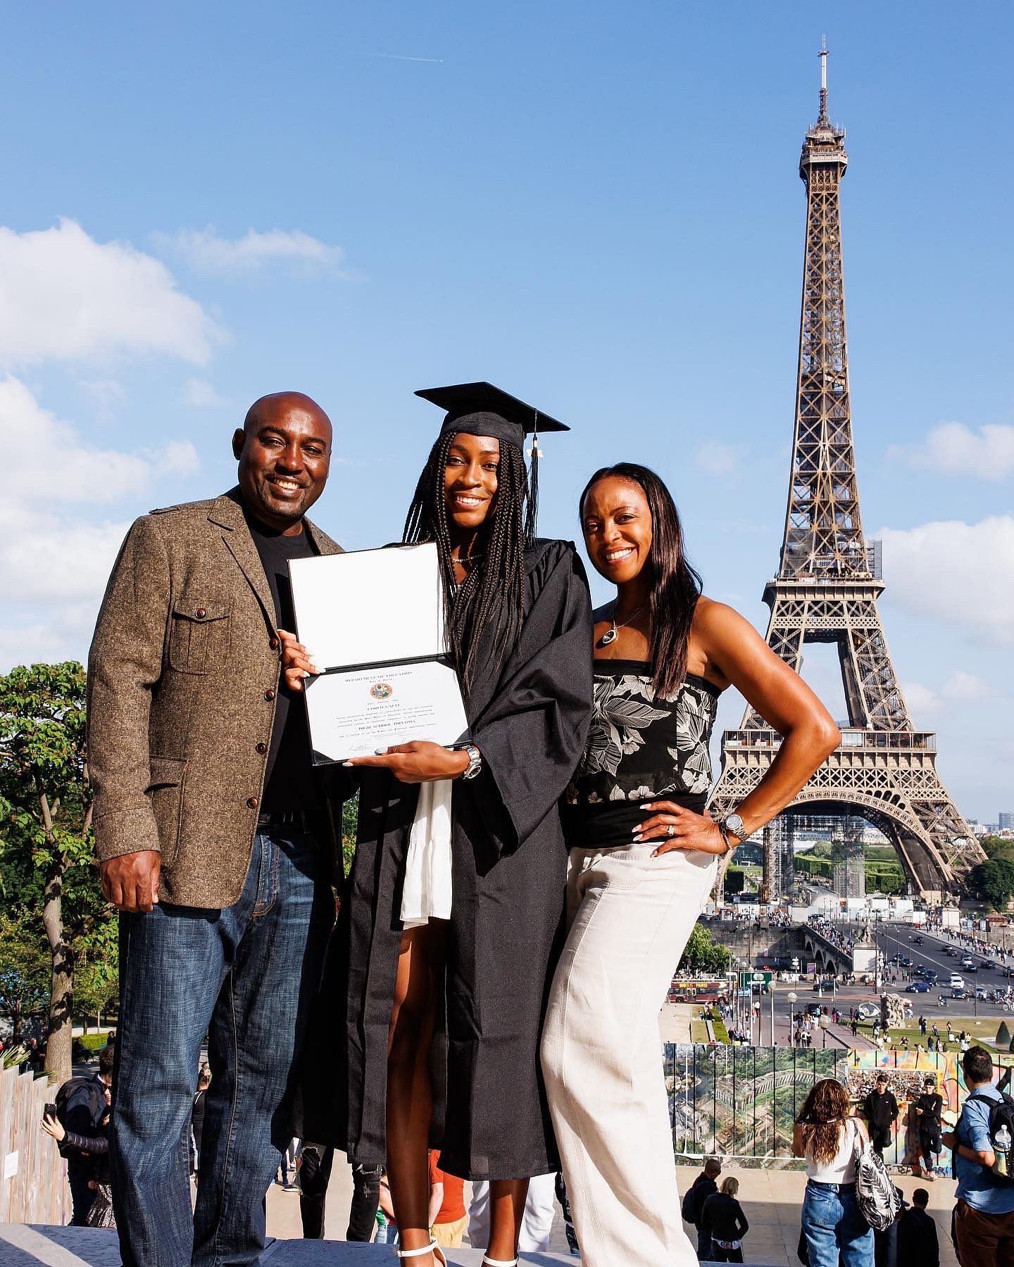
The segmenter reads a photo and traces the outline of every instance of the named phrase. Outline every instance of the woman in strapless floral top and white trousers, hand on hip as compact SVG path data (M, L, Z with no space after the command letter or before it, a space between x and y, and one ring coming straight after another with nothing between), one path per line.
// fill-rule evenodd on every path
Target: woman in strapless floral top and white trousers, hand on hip
M630 462L596 471L581 517L616 598L596 612L594 713L565 797L570 931L542 1071L586 1267L691 1267L658 1012L719 856L790 803L839 734L753 626L701 594L658 475ZM730 685L782 742L715 822L709 741Z

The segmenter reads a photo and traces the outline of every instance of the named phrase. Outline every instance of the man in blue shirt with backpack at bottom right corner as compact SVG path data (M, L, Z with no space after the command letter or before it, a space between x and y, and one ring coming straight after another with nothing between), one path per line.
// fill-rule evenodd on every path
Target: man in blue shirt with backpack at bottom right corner
M984 1047L970 1047L961 1067L968 1098L954 1130L940 1136L954 1154L958 1256L967 1267L1006 1267L1014 1262L1014 1100L992 1086L992 1057Z

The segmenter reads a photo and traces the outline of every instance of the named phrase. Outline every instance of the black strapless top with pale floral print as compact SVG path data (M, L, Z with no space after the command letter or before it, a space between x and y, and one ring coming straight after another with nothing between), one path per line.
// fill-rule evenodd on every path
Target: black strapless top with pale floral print
M646 817L645 801L674 801L701 813L720 694L688 673L671 699L658 699L650 665L596 660L588 742L564 796L568 845L629 845L631 829Z

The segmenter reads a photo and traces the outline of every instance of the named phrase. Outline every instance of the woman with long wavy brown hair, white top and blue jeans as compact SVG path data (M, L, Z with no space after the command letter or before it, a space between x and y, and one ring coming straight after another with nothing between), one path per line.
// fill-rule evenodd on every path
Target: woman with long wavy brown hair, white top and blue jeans
M873 1232L856 1200L856 1154L868 1136L849 1112L848 1092L821 1078L792 1130L792 1152L806 1158L802 1234L810 1267L873 1267Z

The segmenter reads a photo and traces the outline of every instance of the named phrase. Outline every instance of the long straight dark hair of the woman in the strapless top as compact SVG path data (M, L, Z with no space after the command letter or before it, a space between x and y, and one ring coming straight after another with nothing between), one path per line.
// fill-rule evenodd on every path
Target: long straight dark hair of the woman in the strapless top
M578 500L583 518L584 498L593 484L615 475L636 484L651 512L651 549L645 566L651 568L650 616L651 685L660 699L673 696L687 675L687 645L693 612L701 597L701 578L683 554L683 525L672 493L662 479L638 462L602 466L584 485Z

